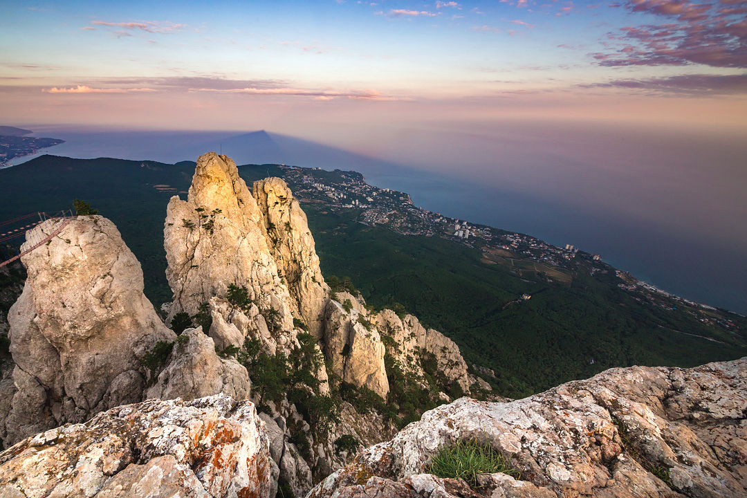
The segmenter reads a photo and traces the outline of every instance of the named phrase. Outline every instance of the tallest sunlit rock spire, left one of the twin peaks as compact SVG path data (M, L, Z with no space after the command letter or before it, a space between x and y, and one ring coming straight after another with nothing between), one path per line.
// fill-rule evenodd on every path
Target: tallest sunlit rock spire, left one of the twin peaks
M215 152L202 155L187 201L173 196L167 208L164 247L174 293L170 315L196 314L230 284L246 286L260 311L276 311L277 326L294 329L291 296L265 237L264 217L236 164Z

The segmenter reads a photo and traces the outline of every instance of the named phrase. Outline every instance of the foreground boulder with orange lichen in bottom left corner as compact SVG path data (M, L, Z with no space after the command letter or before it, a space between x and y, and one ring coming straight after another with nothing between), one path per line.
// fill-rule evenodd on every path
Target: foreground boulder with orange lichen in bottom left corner
M0 453L0 496L266 498L269 455L251 402L149 400Z

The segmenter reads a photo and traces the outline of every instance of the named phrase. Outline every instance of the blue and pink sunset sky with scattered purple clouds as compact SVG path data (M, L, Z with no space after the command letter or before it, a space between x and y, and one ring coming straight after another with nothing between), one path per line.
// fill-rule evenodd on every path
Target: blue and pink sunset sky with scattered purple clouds
M0 108L357 151L506 119L745 131L746 19L740 0L2 1Z

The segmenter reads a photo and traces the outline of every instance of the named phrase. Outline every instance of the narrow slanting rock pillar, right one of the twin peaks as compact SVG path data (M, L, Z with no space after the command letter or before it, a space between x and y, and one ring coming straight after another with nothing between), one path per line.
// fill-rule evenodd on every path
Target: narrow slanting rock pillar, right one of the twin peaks
M309 332L319 338L329 287L319 269L306 214L280 178L255 181L252 191L264 218L262 227L270 240L270 251L291 293L293 309Z

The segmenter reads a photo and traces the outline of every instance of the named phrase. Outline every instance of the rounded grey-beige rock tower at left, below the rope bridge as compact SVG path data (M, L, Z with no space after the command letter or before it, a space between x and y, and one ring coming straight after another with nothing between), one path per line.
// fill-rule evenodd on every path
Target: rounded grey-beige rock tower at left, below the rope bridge
M50 233L60 221L34 230ZM28 278L10 308L18 392L6 441L140 401L141 358L173 340L143 294L143 272L114 224L78 217L22 258Z

